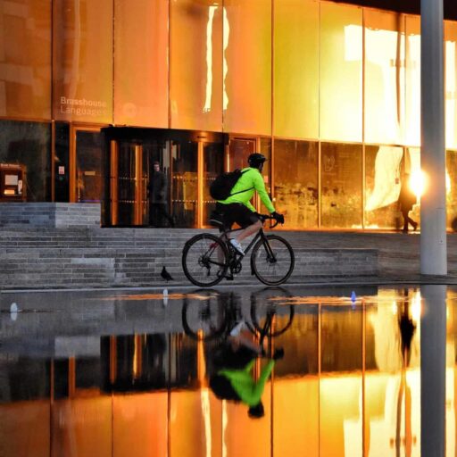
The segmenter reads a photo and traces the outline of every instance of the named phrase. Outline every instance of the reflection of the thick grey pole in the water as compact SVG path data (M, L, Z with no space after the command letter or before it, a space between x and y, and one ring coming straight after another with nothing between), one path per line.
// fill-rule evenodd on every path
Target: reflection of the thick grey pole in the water
M446 287L420 290L420 455L445 457Z

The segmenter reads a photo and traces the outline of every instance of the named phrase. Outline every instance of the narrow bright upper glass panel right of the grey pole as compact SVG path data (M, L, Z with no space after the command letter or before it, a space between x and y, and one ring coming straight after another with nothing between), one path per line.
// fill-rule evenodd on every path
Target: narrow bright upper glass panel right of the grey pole
M457 147L457 22L445 21L446 147Z

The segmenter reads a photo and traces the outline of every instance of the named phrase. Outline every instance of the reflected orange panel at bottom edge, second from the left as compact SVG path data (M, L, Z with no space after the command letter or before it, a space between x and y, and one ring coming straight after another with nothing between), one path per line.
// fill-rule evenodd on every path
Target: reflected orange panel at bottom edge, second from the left
M112 457L111 397L78 398L54 403L52 457Z

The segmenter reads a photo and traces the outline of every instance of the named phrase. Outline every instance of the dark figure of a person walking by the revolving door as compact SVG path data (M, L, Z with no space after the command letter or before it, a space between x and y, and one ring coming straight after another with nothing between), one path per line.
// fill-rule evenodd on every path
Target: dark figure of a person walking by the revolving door
M153 173L149 182L149 224L163 227L163 220L168 220L170 227L175 221L167 210L167 175L161 171L159 162L153 162Z

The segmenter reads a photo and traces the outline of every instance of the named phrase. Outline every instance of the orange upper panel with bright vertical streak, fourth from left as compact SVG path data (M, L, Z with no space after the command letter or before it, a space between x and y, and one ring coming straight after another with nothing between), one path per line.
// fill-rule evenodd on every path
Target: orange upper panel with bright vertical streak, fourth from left
M173 129L222 129L222 6L171 2L170 102Z

